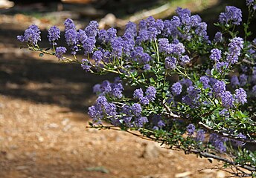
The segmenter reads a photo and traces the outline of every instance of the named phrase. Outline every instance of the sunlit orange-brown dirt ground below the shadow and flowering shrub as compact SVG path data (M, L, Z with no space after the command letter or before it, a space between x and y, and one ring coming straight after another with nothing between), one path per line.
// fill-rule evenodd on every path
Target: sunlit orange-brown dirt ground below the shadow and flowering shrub
M69 108L3 95L0 104L0 177L175 177L186 171L191 177L217 175L196 172L211 167L205 159L159 150L153 142L124 132L85 130L86 114ZM86 170L98 166L109 173Z

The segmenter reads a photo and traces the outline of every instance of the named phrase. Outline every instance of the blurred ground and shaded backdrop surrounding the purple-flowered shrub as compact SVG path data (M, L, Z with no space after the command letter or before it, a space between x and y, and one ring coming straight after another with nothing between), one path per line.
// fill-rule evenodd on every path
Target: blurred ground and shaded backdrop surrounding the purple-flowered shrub
M97 20L100 28L122 33L129 21L170 19L178 6L199 13L212 38L225 5L246 11L243 0L0 0L0 177L225 177L214 169L220 162L211 165L121 131L86 129L92 87L115 76L39 57L16 40L36 24L47 47L49 27L63 30L67 18L77 28Z

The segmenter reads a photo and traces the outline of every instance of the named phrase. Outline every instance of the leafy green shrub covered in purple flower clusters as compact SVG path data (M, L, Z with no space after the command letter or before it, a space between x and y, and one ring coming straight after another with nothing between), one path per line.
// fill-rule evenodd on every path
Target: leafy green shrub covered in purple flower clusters
M98 97L89 108L91 127L112 128L103 125L108 122L123 131L136 130L142 138L187 154L221 160L235 168L234 176L255 177L256 39L248 37L256 4L246 4L243 37L236 30L241 10L227 6L212 40L200 16L180 7L170 20L129 22L122 36L115 28L99 30L95 21L77 30L66 19L68 47L57 45L60 30L55 26L48 30L51 50L39 47L40 30L34 24L18 39L30 50L76 62L86 72L117 74L114 81L93 88Z

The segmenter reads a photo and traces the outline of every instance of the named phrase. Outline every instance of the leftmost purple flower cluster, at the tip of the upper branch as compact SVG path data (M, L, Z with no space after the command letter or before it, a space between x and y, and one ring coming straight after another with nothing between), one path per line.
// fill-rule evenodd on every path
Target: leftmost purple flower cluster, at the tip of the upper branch
M41 31L39 30L39 27L37 27L36 24L31 24L31 26L25 30L24 35L17 36L17 39L20 42L27 42L29 44L36 45L38 41L41 41L40 33Z

